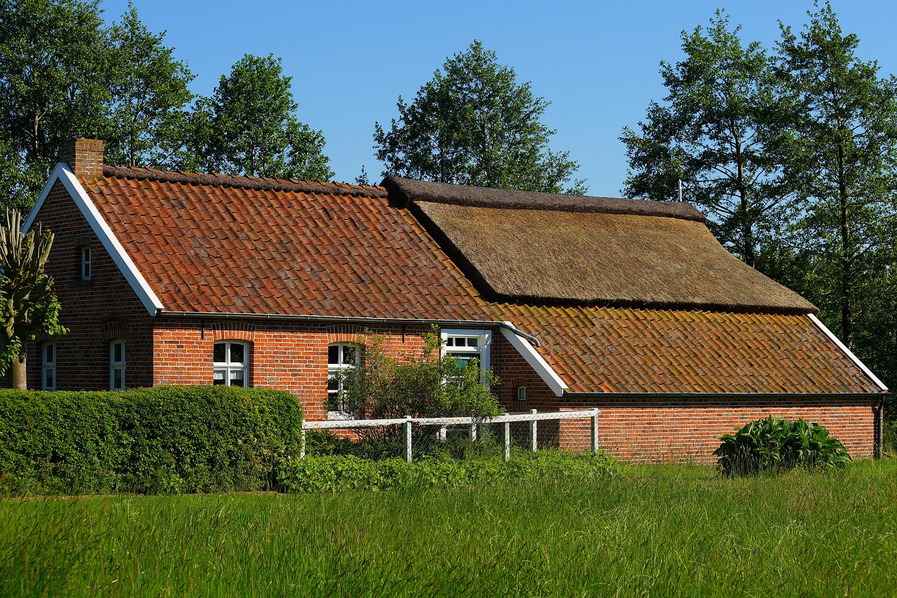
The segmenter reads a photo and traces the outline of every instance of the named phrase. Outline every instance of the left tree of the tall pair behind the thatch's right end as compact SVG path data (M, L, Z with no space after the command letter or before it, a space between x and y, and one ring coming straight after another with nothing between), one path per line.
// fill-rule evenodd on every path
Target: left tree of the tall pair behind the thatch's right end
M717 11L706 31L683 31L684 60L660 63L665 105L652 101L640 131L624 128L620 137L631 169L623 193L670 200L682 180L719 241L757 267L785 220L777 158L790 113L765 50L743 46L740 29Z

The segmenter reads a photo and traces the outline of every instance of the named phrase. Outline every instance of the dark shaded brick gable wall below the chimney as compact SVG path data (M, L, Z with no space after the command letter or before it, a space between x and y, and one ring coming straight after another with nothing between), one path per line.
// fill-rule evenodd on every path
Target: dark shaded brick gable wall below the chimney
M58 390L108 390L109 341L126 340L126 385L152 384L152 319L91 230L62 183L40 209L38 222L55 234L47 271L71 330L28 347L28 385L41 388L43 342L57 343ZM91 247L91 280L81 279L81 247Z

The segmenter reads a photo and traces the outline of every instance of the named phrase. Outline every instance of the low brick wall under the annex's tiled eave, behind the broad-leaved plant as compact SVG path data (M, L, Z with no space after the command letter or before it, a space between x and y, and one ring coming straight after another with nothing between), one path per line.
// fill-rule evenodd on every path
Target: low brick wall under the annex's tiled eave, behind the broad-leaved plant
M873 456L875 408L880 395L831 400L571 400L554 395L507 340L492 343L494 371L501 378L501 403L510 411L599 409L598 444L623 461L711 462L718 436L753 419L768 416L804 418L828 428L855 459ZM527 387L527 401L516 400L517 388ZM540 422L544 444L587 450L588 419ZM518 427L518 442L528 431ZM512 431L513 432L513 431ZM540 440L540 444L543 442Z

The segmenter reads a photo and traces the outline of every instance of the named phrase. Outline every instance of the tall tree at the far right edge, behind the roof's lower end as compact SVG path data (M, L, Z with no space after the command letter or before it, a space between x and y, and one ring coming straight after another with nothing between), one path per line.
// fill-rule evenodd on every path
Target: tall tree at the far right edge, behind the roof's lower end
M842 35L830 4L808 14L799 37L781 25L778 43L779 76L803 109L788 128L784 168L801 202L797 232L814 256L810 299L851 347L858 329L867 337L876 325L870 300L893 294L897 81L858 59L858 37Z

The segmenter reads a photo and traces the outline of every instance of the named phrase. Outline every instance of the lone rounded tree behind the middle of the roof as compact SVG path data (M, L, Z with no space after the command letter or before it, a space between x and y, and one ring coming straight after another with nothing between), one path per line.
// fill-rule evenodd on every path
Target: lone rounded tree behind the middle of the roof
M399 119L391 128L385 131L375 123L374 149L386 165L384 175L584 193L585 181L572 180L579 163L570 160L569 152L548 148L555 131L540 121L548 105L475 40L446 60L414 102L405 104L399 97Z

